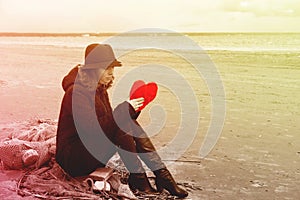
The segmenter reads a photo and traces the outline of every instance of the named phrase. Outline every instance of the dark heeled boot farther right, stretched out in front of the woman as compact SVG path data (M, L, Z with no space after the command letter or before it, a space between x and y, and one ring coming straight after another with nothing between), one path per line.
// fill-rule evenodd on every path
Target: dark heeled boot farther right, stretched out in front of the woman
M184 198L188 196L187 191L177 186L175 180L173 179L171 173L167 168L159 169L154 171L156 176L155 184L159 192L163 189L169 191L171 195Z

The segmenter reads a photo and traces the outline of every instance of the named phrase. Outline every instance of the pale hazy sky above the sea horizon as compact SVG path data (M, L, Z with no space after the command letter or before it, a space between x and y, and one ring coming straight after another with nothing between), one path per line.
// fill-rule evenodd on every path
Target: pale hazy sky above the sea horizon
M300 32L300 0L0 0L0 32Z

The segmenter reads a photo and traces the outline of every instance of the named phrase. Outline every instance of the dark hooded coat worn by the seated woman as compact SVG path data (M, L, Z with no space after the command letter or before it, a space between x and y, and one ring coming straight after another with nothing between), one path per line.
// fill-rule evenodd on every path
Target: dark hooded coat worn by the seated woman
M128 113L132 118L136 118L138 114L126 101L113 111L107 91L102 87L97 88L95 94L77 82L75 86L77 73L76 66L62 82L65 94L56 138L56 161L71 176L87 175L96 168L105 166L116 152L113 143L118 143L116 133L119 126L115 119L118 123L125 122ZM103 131L99 131L99 125ZM87 150L86 145L96 152L93 155L97 158Z

